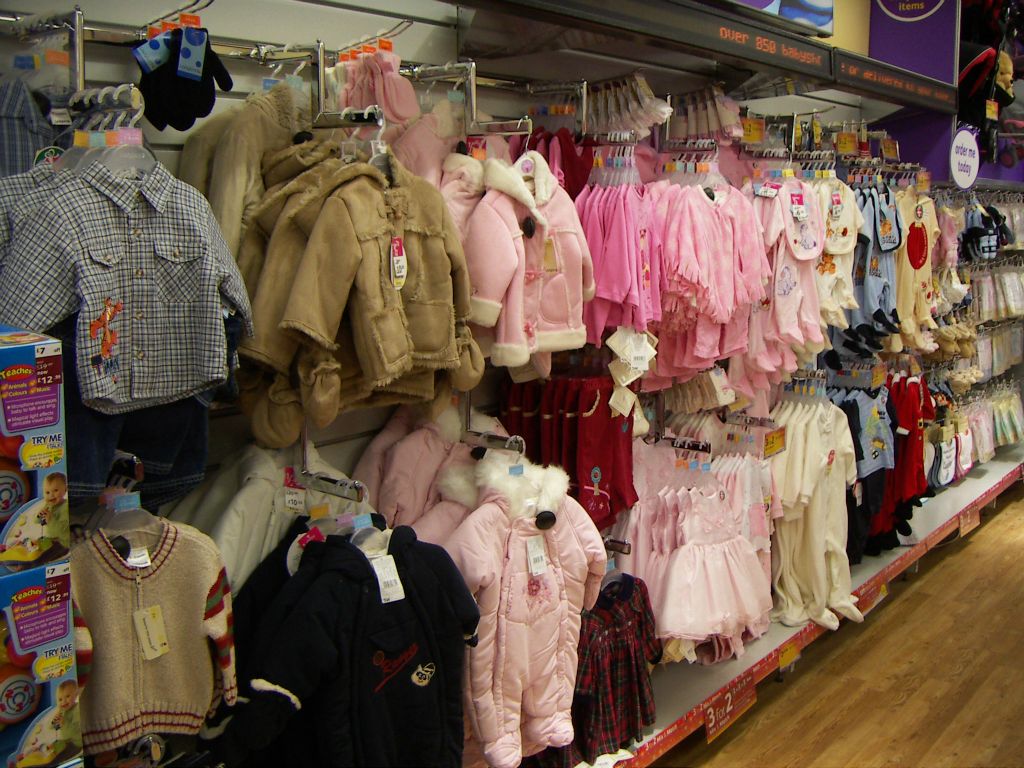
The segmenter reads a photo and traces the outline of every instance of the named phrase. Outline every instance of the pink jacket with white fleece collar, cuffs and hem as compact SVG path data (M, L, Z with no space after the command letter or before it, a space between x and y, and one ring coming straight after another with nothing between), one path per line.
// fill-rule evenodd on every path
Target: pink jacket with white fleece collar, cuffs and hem
M536 152L513 166L487 160L483 183L465 250L472 322L495 329L492 361L523 366L534 352L579 349L594 267L571 198Z

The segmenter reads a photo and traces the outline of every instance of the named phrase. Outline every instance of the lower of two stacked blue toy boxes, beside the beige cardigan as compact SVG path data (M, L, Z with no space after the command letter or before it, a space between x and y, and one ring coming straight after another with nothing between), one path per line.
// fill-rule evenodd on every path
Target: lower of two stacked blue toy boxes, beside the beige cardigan
M0 578L0 768L81 765L71 565Z

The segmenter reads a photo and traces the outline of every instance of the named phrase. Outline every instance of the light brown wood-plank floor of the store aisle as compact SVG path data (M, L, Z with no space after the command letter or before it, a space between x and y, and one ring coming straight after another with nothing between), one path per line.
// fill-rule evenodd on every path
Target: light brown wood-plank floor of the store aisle
M656 765L1024 766L1024 492L843 623L713 743Z

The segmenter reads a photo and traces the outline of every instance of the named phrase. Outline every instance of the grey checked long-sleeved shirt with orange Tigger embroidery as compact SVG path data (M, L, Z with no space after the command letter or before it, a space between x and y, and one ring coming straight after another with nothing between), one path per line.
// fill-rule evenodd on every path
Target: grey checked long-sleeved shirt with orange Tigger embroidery
M99 162L49 191L12 234L0 323L42 332L78 312L82 400L102 413L222 383L224 306L250 334L252 310L203 196L161 165L134 180Z

